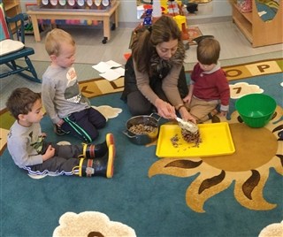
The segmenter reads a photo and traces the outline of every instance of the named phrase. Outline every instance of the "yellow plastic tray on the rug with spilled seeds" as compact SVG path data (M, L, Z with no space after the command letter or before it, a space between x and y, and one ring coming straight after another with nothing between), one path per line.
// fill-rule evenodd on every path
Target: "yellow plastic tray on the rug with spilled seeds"
M200 124L198 127L202 142L197 147L183 140L179 125L160 126L157 157L213 157L235 152L228 123ZM179 138L177 148L171 141L176 134Z

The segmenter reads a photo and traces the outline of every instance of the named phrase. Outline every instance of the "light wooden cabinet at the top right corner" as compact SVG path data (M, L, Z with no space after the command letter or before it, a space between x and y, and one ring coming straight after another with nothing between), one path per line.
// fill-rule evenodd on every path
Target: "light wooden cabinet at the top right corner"
M274 19L264 21L258 15L256 1L253 0L252 12L243 13L240 11L236 1L232 4L233 22L239 27L253 47L271 45L283 42L283 3L280 1L279 10Z

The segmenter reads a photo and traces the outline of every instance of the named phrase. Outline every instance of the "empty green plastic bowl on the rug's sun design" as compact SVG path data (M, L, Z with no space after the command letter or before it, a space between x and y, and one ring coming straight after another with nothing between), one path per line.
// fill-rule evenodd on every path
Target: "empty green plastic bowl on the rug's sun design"
M250 127L265 126L272 119L275 109L275 100L264 94L249 94L236 102L241 119Z

